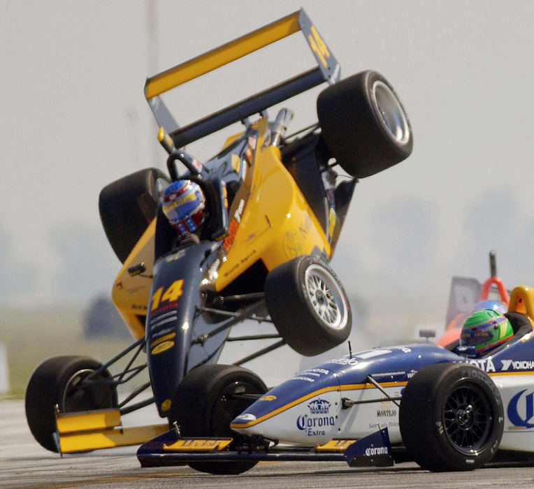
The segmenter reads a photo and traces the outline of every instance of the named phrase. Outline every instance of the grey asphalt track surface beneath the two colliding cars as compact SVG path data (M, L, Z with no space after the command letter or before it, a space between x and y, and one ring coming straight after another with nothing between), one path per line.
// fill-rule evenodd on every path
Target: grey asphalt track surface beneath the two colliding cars
M124 447L60 458L31 437L22 401L0 402L1 488L534 487L534 464L432 474L414 463L387 469L352 469L344 462L277 462L260 463L238 476L213 476L189 467L143 469L135 454L136 447Z

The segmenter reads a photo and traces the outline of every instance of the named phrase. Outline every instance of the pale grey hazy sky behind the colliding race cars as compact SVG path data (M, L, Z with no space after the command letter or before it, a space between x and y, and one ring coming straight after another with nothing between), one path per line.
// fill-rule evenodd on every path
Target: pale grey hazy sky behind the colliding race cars
M376 310L424 291L442 316L451 276L485 279L492 248L507 286L534 285L533 2L0 0L0 300L110 291L99 191L166 157L147 75L301 6L342 77L380 71L414 131L409 159L356 187L333 260L349 293ZM310 68L289 45L173 94L178 122ZM286 104L291 129L315 122L316 94Z

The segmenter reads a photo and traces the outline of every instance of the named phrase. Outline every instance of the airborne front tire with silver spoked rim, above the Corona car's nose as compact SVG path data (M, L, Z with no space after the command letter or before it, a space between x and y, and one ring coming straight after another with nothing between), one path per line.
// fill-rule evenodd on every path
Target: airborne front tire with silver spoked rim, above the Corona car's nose
M347 294L321 258L298 256L273 268L266 277L265 299L278 333L301 355L319 355L349 337Z

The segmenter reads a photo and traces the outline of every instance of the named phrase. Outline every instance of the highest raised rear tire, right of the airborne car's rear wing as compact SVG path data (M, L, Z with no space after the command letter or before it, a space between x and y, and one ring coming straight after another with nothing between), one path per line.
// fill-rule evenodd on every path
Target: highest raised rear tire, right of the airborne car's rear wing
M374 175L412 153L410 120L393 87L376 71L324 89L317 115L332 156L355 178Z

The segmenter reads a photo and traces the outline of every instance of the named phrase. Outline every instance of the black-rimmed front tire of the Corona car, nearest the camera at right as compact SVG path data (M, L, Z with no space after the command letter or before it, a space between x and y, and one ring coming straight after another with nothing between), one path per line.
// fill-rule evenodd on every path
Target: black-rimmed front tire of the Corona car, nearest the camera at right
M433 472L482 467L503 436L503 402L493 381L466 363L424 367L408 381L399 424L407 455Z

